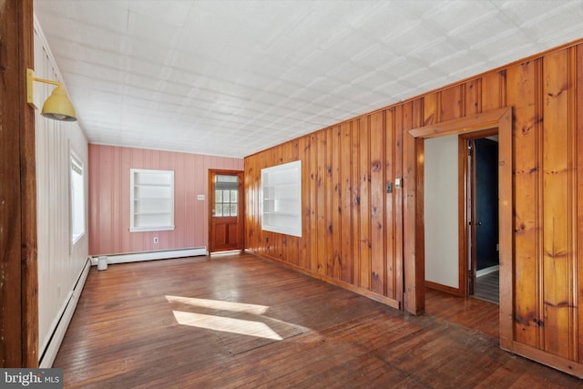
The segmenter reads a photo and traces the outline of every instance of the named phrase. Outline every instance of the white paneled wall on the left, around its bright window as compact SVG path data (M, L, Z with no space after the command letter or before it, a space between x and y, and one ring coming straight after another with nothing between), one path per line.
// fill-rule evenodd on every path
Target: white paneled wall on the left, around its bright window
M53 56L35 20L36 77L62 80ZM35 101L42 107L54 86L35 82ZM75 104L75 101L73 101ZM36 110L36 213L38 233L39 357L74 295L77 279L88 257L88 153L87 137L78 122L49 120ZM82 160L86 186L86 234L75 245L70 239L69 149ZM65 323L68 324L68 321ZM62 330L64 333L64 330ZM60 344L60 340L58 340ZM55 348L54 345L51 347ZM56 345L56 348L58 344ZM56 351L54 351L56 353ZM53 356L54 358L54 356ZM48 365L52 364L52 360ZM43 363L46 366L47 363Z

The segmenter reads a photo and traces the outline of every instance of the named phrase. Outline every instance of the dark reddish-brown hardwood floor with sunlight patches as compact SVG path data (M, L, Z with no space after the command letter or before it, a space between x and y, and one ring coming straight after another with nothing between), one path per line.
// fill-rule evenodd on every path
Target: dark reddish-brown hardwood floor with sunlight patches
M65 387L552 388L498 348L497 305L427 291L413 316L250 254L91 269Z

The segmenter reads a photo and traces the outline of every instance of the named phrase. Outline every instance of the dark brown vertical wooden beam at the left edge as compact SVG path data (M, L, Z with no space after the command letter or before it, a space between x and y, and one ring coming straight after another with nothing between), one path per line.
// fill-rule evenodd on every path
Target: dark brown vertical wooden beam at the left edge
M38 366L33 1L0 2L0 367Z

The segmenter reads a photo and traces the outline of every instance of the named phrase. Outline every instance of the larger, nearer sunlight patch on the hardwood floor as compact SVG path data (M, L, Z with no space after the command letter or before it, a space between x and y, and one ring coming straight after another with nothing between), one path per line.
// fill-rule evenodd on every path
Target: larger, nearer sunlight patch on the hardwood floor
M182 325L227 333L240 333L242 335L257 336L276 341L281 341L283 339L278 333L271 330L271 328L264 322L253 322L250 320L240 320L194 312L173 311L173 313L176 321Z

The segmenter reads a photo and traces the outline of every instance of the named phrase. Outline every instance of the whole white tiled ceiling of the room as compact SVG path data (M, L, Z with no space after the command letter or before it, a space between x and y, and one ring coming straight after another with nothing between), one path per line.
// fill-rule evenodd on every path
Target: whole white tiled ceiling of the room
M583 36L580 0L35 0L90 142L244 157Z

